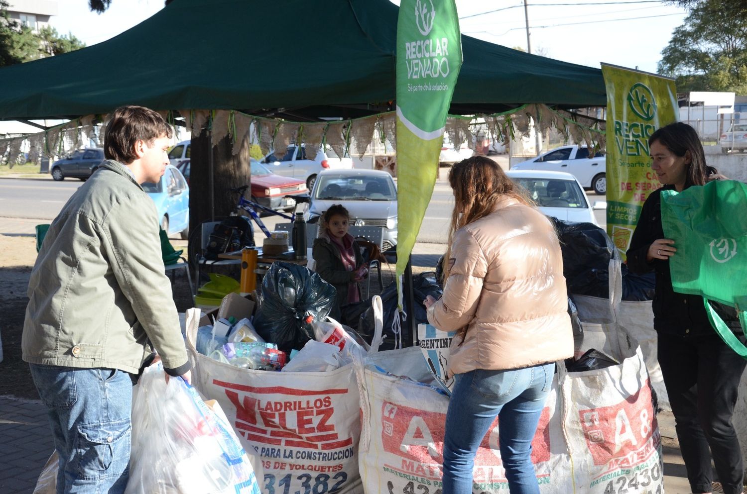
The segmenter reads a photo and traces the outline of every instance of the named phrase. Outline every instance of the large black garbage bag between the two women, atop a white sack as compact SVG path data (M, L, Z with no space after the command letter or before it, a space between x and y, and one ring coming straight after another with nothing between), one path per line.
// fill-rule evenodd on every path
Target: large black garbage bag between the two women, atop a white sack
M563 275L568 293L608 298L609 269L615 246L602 228L593 223L568 223L552 218L560 237ZM636 275L622 265L622 299L654 298L654 272Z

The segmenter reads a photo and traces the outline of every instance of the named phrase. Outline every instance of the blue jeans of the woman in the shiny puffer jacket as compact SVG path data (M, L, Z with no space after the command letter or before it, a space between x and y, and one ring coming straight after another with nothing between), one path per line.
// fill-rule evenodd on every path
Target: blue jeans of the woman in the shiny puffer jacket
M471 494L474 455L498 416L500 459L511 494L539 494L532 440L555 364L456 375L446 413L444 494Z

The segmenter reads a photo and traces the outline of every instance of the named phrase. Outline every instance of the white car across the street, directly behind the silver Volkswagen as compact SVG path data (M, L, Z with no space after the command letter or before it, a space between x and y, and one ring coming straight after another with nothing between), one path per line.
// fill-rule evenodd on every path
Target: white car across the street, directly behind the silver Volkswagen
M330 146L317 152L316 157L310 160L306 157L305 144L300 147L291 144L282 157L276 157L274 152L270 152L264 157L262 163L265 163L267 168L277 175L306 181L306 188L309 190L314 188L314 181L323 170L353 168L353 160L350 157L338 157Z

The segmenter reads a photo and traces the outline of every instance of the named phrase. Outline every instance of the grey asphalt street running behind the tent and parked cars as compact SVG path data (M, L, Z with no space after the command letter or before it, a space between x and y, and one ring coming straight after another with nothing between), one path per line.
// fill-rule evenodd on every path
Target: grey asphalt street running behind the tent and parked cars
M445 179L445 173L436 182L433 197L430 200L426 216L418 234L419 243L446 243L451 211L454 199L451 188ZM31 219L55 219L63 204L72 196L82 184L78 180L65 180L55 182L50 180L24 180L24 179L0 179L0 216L8 218L31 218ZM587 193L589 202L606 201L606 196L596 196L593 192ZM604 210L595 211L597 221L602 228L607 225L607 217ZM280 216L265 216L262 218L267 228L272 230L276 223L286 222ZM260 236L261 231L256 228Z

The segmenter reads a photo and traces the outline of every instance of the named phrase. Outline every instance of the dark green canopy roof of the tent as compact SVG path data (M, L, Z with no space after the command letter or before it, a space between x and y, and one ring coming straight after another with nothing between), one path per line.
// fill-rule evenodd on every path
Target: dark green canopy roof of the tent
M295 121L393 108L398 7L388 0L176 0L117 37L0 69L0 119L121 104ZM601 70L462 36L452 114L606 104Z

